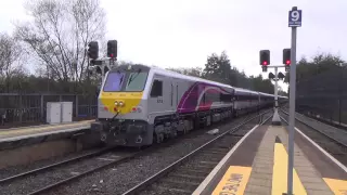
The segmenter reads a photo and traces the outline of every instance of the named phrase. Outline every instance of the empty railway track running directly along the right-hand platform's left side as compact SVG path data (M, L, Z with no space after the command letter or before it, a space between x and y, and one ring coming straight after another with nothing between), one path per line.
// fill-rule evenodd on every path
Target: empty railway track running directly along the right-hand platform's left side
M259 121L264 125L272 114ZM261 117L262 118L262 117ZM162 169L142 183L124 193L130 194L192 194L205 177L243 135L257 126L243 121L235 128L221 133L190 154Z

